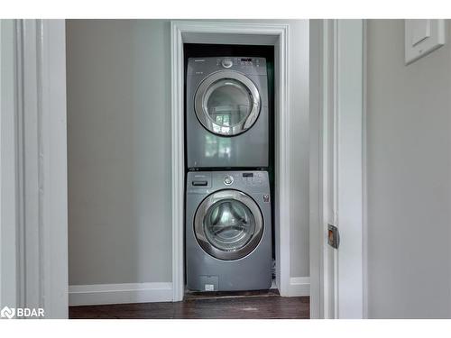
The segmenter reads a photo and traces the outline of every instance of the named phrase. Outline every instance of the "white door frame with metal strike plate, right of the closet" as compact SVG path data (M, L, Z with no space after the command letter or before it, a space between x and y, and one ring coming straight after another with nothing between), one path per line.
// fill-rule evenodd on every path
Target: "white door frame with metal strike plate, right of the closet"
M318 169L318 196L310 192L318 210L310 219L310 242L319 241L318 248L312 245L318 255L310 253L319 257L310 265L312 279L318 276L312 317L363 318L364 21L321 20L311 27L319 41L310 45L319 60L310 78L310 87L318 85L311 114L319 154L310 168Z

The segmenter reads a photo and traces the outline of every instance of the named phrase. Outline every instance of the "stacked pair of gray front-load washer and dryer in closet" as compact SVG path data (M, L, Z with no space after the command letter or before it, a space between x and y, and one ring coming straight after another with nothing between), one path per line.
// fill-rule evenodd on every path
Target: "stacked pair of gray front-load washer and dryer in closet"
M187 288L270 288L266 60L188 59L186 106Z

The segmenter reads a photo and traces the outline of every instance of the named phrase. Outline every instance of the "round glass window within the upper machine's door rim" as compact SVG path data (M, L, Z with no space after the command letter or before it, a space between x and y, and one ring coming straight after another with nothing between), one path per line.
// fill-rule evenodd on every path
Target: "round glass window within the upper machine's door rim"
M238 80L223 78L207 89L204 106L217 127L225 128L242 123L251 113L253 97Z

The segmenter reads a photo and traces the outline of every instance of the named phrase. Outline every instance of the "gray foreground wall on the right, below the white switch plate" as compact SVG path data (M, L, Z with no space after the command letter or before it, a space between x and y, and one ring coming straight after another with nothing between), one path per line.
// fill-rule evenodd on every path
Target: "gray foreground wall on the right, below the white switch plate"
M451 34L406 67L403 24L368 23L368 315L449 318Z

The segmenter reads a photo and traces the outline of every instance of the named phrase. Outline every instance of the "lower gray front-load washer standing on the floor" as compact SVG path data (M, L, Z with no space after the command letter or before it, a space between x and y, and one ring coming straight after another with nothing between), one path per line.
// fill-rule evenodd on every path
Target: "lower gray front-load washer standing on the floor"
M271 195L266 171L190 171L186 199L187 288L271 288Z

